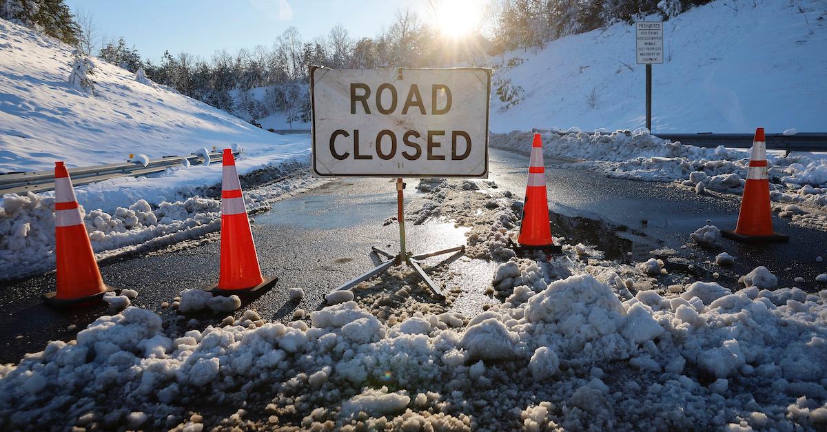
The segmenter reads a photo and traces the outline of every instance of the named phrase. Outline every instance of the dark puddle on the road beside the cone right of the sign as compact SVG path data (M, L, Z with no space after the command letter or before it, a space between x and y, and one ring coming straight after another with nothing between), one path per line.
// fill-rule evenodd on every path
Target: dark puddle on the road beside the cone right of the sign
M553 212L550 219L552 235L565 237L571 244L583 243L595 247L609 260L645 261L652 256L650 251L663 246L662 242L622 225Z

